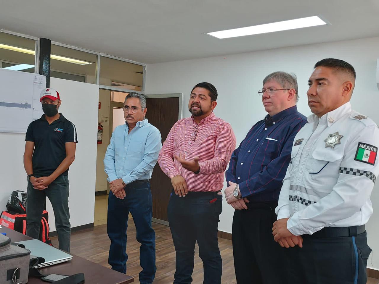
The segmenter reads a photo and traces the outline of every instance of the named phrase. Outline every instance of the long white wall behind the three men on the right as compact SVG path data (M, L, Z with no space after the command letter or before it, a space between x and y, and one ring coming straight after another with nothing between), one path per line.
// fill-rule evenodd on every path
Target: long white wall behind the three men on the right
M192 87L204 81L214 84L218 90L215 114L232 125L239 145L251 126L266 115L257 91L262 88L263 78L271 72L282 70L298 76L298 109L306 116L310 114L307 82L314 64L323 58L340 58L354 66L357 80L351 100L353 108L379 124L379 91L376 86L379 37L150 64L146 67L146 94L185 94L183 117L188 117L187 103ZM374 215L366 226L368 242L373 249L368 266L376 268L379 268L378 190L379 183L371 196ZM232 232L233 211L224 201L219 230Z

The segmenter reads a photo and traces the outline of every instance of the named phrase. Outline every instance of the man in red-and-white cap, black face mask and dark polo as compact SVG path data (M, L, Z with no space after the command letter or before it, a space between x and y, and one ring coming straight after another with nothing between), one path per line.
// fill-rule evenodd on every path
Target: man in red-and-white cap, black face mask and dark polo
M44 115L30 123L25 137L23 161L28 175L26 234L38 239L42 211L48 197L54 210L59 248L70 251L67 175L75 159L78 138L74 123L58 112L62 101L56 90L44 89L40 101Z

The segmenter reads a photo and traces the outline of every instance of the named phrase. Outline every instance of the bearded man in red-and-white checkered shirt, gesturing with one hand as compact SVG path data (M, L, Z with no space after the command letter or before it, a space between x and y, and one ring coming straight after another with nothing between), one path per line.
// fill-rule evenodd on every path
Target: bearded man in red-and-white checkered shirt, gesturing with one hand
M221 284L220 191L236 139L230 124L213 113L216 99L212 84L194 86L188 103L192 116L175 123L159 153L158 163L174 187L168 205L176 251L174 284L192 282L196 241L204 264L204 284Z

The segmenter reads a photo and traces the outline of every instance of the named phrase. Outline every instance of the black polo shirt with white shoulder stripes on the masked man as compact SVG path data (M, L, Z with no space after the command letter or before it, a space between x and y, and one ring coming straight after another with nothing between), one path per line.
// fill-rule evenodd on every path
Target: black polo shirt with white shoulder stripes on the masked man
M62 114L49 125L42 115L30 123L25 141L34 142L33 174L36 178L51 175L66 158L66 142L78 143L74 123ZM62 175L67 175L67 169Z

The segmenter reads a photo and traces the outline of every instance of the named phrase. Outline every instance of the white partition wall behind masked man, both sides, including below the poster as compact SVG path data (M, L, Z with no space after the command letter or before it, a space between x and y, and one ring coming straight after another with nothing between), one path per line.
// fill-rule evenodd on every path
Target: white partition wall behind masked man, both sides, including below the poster
M59 111L75 124L78 133L75 161L69 170L71 227L93 223L99 86L51 78L50 87L60 93L62 105ZM24 140L23 133L0 133L0 210L5 210L13 190L27 189L23 168ZM50 231L55 231L50 203L47 211Z

